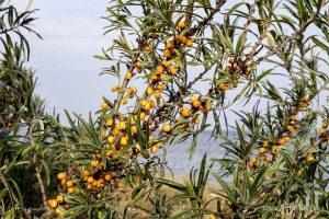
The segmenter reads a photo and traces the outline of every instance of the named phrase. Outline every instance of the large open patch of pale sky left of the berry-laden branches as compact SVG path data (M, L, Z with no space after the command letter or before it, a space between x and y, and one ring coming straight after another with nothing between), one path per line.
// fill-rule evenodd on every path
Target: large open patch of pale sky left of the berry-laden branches
M14 0L21 9L27 0ZM36 92L47 106L60 113L67 108L88 115L95 111L103 94L109 93L109 77L100 77L105 61L93 58L111 38L103 36L107 0L34 0L39 9L34 28L43 39L30 36L30 66L36 70Z

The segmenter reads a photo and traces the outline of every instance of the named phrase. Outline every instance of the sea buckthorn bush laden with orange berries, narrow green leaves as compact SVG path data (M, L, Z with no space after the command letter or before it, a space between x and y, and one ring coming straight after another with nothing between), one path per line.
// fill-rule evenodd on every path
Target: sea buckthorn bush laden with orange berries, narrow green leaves
M109 93L49 118L42 217L328 217L327 1L113 0L104 19ZM206 130L225 154L171 180L167 148L192 157Z

